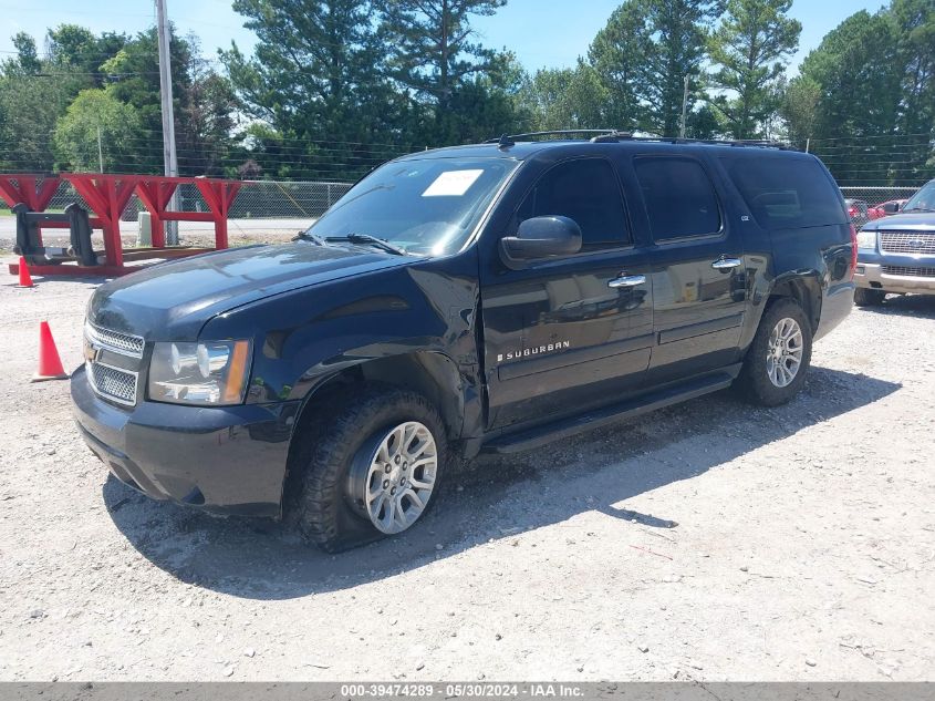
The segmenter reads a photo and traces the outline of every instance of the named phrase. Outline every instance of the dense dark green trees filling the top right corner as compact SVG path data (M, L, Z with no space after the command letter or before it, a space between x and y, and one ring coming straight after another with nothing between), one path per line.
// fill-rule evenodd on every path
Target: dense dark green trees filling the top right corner
M839 182L932 177L933 31L932 0L894 0L846 18L803 61L802 80L819 92L812 150Z

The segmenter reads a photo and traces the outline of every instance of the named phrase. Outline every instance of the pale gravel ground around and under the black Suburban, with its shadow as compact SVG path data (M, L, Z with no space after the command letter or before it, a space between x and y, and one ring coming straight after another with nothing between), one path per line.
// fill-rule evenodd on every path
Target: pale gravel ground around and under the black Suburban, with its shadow
M3 274L6 275L6 272ZM2 680L935 677L935 298L855 310L804 393L729 393L455 475L340 556L122 486L80 362L94 284L0 285Z

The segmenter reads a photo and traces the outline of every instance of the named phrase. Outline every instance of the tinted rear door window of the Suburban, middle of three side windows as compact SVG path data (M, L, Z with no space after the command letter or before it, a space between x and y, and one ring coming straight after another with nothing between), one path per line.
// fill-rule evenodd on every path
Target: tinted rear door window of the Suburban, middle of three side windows
M654 240L710 236L720 230L717 195L700 163L641 156L633 166Z

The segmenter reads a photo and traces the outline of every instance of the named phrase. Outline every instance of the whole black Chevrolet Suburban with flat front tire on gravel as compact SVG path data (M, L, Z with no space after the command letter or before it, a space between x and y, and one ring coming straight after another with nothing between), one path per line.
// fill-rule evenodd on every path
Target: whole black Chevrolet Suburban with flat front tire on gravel
M814 156L527 134L393 161L290 245L100 287L77 426L156 499L409 528L451 464L731 384L792 399L856 245Z

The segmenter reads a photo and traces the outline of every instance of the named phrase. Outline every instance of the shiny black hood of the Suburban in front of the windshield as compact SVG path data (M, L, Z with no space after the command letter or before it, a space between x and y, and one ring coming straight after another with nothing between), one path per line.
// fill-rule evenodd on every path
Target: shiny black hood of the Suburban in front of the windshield
M87 318L147 340L196 340L211 317L264 297L406 265L363 249L295 243L248 246L153 266L102 285Z

